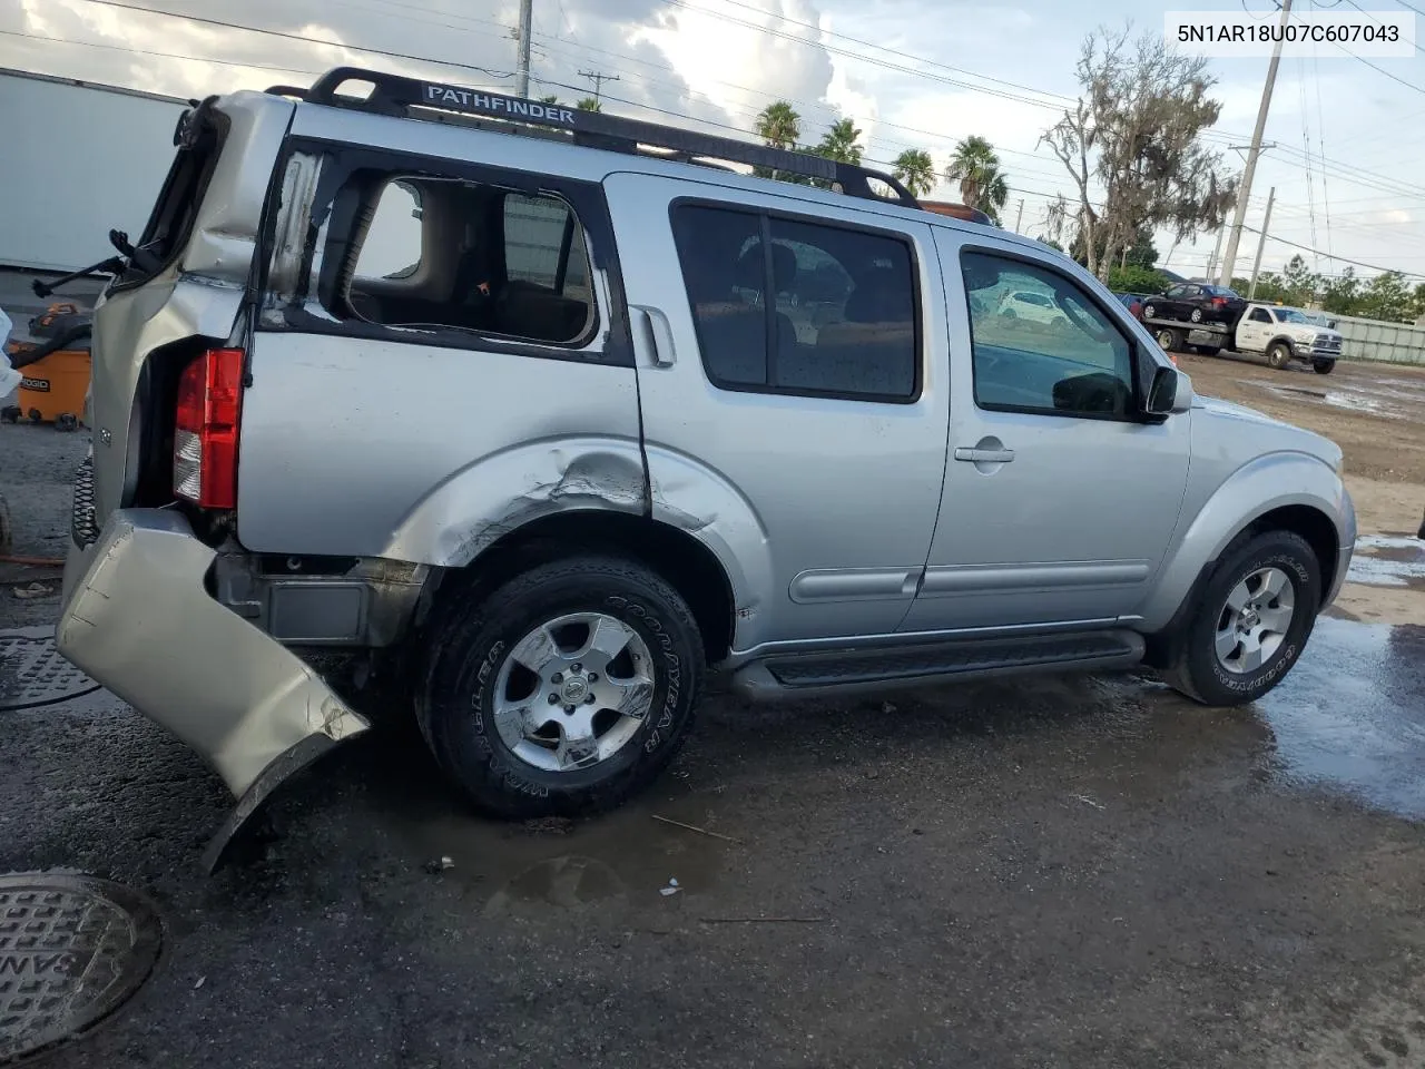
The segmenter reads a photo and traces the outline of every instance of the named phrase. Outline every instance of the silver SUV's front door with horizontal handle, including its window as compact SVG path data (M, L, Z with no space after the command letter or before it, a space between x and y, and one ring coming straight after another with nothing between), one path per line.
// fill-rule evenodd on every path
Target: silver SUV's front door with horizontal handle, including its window
M950 456L902 630L1131 616L1187 485L1190 413L1134 419L1151 368L1107 299L1056 259L936 231L950 315ZM1036 292L1047 322L1002 314Z

